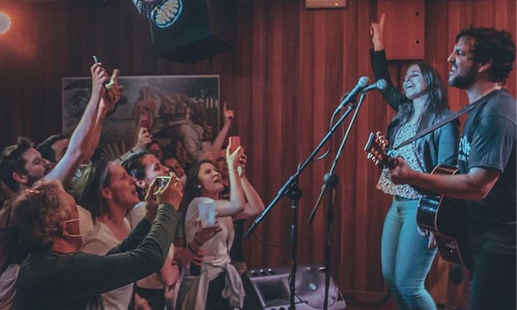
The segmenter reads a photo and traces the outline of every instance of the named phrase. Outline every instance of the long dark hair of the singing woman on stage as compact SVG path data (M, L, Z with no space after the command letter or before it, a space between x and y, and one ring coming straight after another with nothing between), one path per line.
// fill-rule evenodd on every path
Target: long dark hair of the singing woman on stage
M437 117L442 116L449 108L449 101L447 100L447 91L442 82L442 78L436 69L423 61L417 61L412 65L417 65L420 68L420 72L425 81L425 94L428 95L427 102L422 109L423 112L418 125L418 132L430 127ZM394 133L397 133L414 114L415 108L413 101L402 103L399 106L399 111L392 119L393 122L397 123Z

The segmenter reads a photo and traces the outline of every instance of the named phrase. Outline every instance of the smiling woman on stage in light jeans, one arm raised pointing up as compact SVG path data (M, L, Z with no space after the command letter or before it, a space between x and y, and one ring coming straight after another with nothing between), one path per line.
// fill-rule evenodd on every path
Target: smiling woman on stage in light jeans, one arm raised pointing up
M388 82L382 91L383 98L396 111L386 134L393 147L431 127L450 111L443 82L427 63L418 61L409 66L402 83L404 93L393 86L383 44L384 19L383 14L378 24L372 23L373 50L370 55L375 79ZM415 170L426 173L437 164L455 165L457 154L457 122L450 122L390 153L403 157ZM436 244L432 234L418 233L416 213L421 194L407 184L393 184L384 172L377 189L393 196L381 239L381 263L386 283L399 308L434 310L436 305L425 290L424 281L436 255Z

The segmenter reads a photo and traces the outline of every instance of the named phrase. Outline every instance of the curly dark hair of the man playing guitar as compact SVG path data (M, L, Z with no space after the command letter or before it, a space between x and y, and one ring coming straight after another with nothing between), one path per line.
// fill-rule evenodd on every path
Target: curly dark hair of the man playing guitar
M472 54L476 63L492 63L487 71L489 80L501 85L506 84L515 61L515 43L512 35L505 30L470 26L456 35L455 42L458 43L462 37L475 40Z

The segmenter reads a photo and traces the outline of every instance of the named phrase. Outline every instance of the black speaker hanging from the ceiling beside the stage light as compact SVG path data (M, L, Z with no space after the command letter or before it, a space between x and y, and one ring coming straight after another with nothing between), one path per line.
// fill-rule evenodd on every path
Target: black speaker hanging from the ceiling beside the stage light
M233 48L237 41L237 0L183 0L182 5L169 27L150 23L160 57L194 63Z

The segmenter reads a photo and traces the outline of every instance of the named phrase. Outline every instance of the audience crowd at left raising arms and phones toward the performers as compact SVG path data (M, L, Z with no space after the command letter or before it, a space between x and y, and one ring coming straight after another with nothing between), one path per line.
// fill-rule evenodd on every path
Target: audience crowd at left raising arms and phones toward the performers
M92 161L123 86L105 87L100 63L91 73L92 96L70 138L36 146L20 137L0 156L0 309L242 308L242 226L236 233L233 221L264 204L244 148L222 148L234 111L225 103L224 126L190 167L145 127L127 153ZM213 225L200 223L201 197L214 205Z

